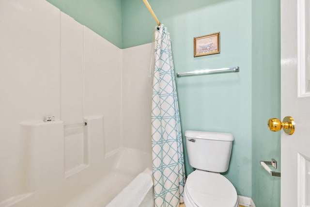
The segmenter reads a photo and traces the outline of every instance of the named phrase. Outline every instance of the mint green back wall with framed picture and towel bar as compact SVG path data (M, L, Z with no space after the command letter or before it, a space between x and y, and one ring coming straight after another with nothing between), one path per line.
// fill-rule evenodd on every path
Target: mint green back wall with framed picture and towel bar
M230 169L224 175L238 194L251 197L251 1L149 3L171 33L175 72L240 66L239 73L177 78L176 84L183 135L188 129L233 133ZM123 0L122 6L123 46L151 42L156 23L143 1ZM220 32L220 54L194 58L193 37L214 32Z

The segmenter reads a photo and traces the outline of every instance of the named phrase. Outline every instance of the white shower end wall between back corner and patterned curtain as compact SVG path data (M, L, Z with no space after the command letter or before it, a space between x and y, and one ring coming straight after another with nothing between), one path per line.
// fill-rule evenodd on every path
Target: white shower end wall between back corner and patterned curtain
M151 152L152 44L123 49L122 145Z

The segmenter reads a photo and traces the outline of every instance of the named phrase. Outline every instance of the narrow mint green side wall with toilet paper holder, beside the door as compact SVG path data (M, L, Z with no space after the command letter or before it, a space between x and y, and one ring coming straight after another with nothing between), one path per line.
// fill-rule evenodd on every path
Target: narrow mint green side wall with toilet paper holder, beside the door
M281 171L280 133L267 128L280 117L280 0L252 3L252 198L256 207L280 207L280 178L259 164L274 158Z

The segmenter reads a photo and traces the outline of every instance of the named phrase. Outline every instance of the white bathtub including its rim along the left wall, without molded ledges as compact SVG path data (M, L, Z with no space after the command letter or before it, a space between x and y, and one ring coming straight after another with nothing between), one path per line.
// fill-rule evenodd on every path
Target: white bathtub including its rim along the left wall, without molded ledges
M130 198L128 193L125 194L126 199L124 199L124 195L122 196L122 191L128 187L130 188L130 193L133 192L131 191L132 189L138 191L139 195L141 195L141 191L145 192L137 207L154 207L154 191L150 162L151 153L137 149L121 148L110 153L106 157L106 172L104 172L104 175L88 188L80 191L69 201L62 198L70 197L70 192L75 189L67 189L66 192L59 189L62 191L62 196L59 196L59 198L54 197L52 198L54 201L48 201L47 203L45 202L48 199L45 199L45 196L41 196L39 199L36 198L35 191L24 193L0 202L0 207L41 207L43 205L45 207L106 207L107 205L109 207L134 207L132 205L128 206L128 204L132 199L137 200L137 197ZM143 174L149 176L148 180L139 178L139 175ZM148 185L146 188L143 183L141 185L141 182L151 182L152 185ZM142 186L143 189L137 189L139 186ZM43 194L45 192L41 193ZM46 196L49 198L53 197L52 194ZM59 201L62 201L62 203ZM109 205L112 201L114 201L114 203ZM124 201L124 203L122 203L122 201Z

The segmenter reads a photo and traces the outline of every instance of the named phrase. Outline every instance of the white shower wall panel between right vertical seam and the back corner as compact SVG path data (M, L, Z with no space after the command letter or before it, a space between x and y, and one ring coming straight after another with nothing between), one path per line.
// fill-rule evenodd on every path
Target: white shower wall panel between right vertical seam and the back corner
M84 27L84 115L104 116L106 153L121 147L121 52Z

